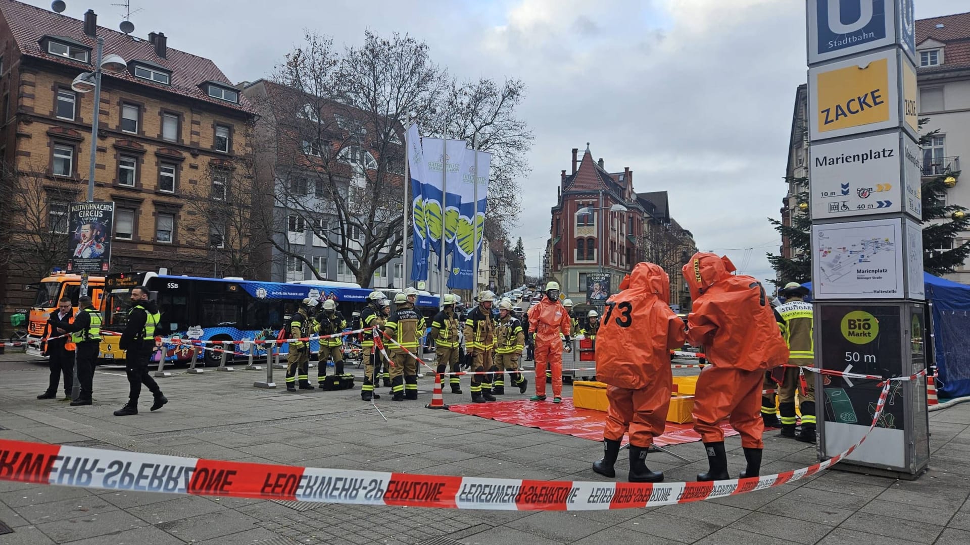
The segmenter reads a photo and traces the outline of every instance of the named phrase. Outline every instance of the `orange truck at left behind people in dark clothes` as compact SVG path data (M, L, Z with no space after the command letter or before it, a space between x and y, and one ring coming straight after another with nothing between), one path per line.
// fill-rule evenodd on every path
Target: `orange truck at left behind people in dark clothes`
M78 313L78 298L81 297L81 274L72 272L53 272L40 282L28 287L37 290L34 303L30 307L30 317L27 323L26 352L32 356L41 356L43 350L44 330L50 313L57 309L57 301L62 297L71 298L71 314ZM101 308L104 296L105 277L88 276L87 294L91 296L95 308Z

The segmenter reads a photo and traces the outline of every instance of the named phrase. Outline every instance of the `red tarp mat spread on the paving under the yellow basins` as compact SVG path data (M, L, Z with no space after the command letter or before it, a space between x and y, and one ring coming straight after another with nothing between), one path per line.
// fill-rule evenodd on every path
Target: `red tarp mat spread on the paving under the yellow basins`
M584 439L601 441L603 439L603 423L606 413L598 410L576 408L572 406L571 398L564 398L562 403L547 401L496 401L491 403L469 403L464 405L450 405L454 412L480 416L490 420L498 420L506 424L538 428L546 432L562 433ZM728 424L722 424L725 435L736 435L737 432ZM624 442L627 442L624 437ZM694 431L693 424L666 423L663 435L654 439L659 446L693 443L700 440L700 435Z

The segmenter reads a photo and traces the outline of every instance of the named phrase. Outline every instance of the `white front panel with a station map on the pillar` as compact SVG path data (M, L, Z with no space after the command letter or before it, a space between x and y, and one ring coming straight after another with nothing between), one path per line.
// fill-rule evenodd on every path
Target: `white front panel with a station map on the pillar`
M814 224L813 297L904 299L902 244L900 219Z

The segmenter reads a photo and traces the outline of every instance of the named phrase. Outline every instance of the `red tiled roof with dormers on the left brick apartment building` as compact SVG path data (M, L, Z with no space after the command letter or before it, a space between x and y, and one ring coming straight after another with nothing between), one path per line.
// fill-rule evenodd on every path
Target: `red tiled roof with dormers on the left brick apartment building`
M13 33L17 48L20 52L32 57L47 59L51 62L90 70L95 62L97 42L94 38L84 34L84 22L69 16L55 14L48 10L29 6L14 0L0 0L0 13L7 20L7 25ZM155 53L155 47L147 40L122 34L110 28L98 26L98 35L105 39L105 54L117 54L127 62L144 60L163 66L172 71L172 84L150 83L135 78L125 71L121 74L105 74L104 78L128 80L142 85L171 91L179 95L196 100L217 104L219 106L252 112L248 103L240 93L240 104L233 104L224 100L211 98L199 84L203 81L216 81L233 86L225 74L208 58L167 48L167 58ZM40 41L45 36L64 36L84 46L91 48L91 62L84 64L57 55L51 55L41 48Z

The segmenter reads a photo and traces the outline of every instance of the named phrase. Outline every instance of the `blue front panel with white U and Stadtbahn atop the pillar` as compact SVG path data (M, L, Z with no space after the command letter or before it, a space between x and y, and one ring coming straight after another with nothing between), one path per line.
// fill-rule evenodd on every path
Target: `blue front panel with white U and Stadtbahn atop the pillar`
M808 64L895 42L893 0L808 0Z

